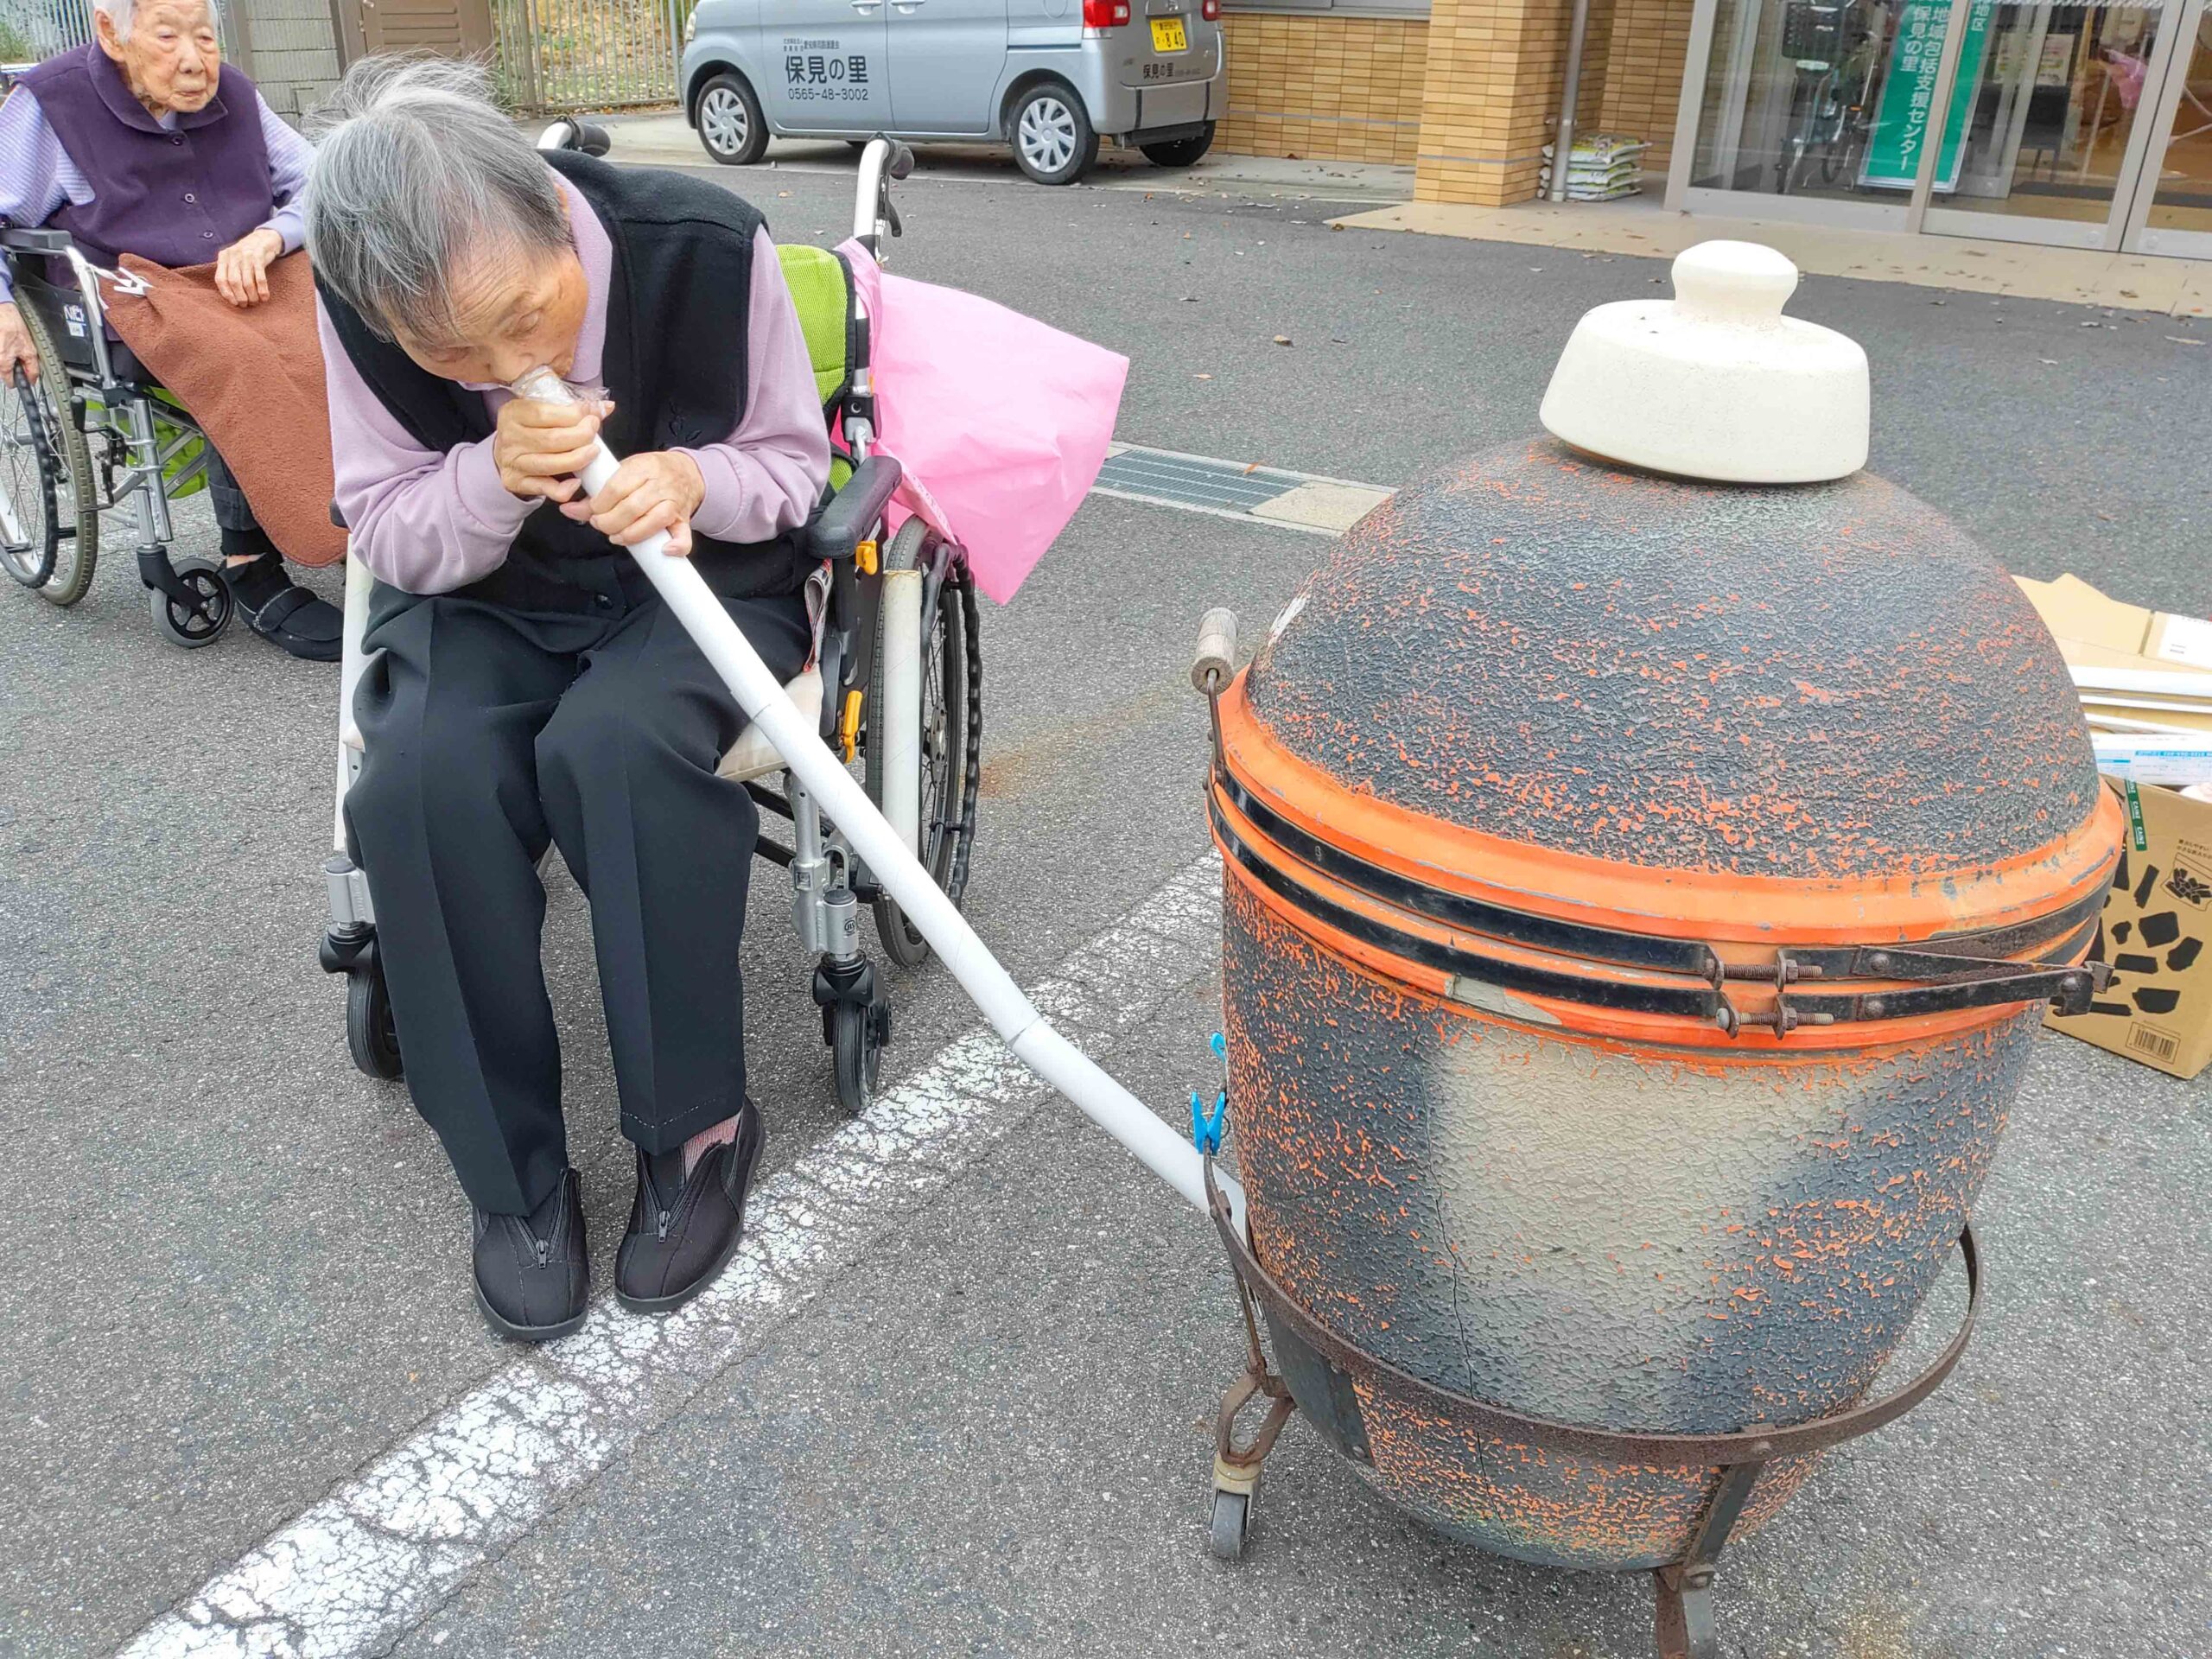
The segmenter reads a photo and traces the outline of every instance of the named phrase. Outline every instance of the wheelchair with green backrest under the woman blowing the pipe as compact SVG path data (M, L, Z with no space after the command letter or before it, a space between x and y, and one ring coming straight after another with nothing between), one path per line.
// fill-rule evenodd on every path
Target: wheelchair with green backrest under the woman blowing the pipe
M604 153L604 135L580 122L555 122L542 148L573 144ZM597 146L597 148L595 148ZM902 234L889 181L914 168L905 144L872 139L860 157L854 239L869 259L885 237ZM874 447L874 380L869 374L869 319L856 296L845 259L823 248L779 246L785 279L807 341L823 418L830 422L830 493L807 524L821 560L810 608L816 617L814 661L785 686L803 710L814 710L818 732L847 765L860 765L869 801L894 823L914 825L914 849L938 887L958 905L967 889L975 843L975 799L982 783L982 655L975 582L962 549L920 518L885 535L885 513L898 487L894 456ZM889 619L885 577L920 575L920 684L914 708L894 710L878 635ZM345 843L345 792L361 772L361 730L354 688L365 666L372 577L347 560L345 639L338 686L338 779L332 856L323 865L330 922L321 962L345 975L345 1035L354 1064L369 1077L396 1079L405 1071L405 1033L394 1026L376 958L376 911L363 872ZM918 799L891 801L891 719L914 721L920 737ZM883 953L907 969L929 958L929 945L869 876L852 845L759 734L748 728L723 757L721 776L739 781L768 816L790 825L790 841L765 830L759 854L790 872L792 918L801 945L818 953L814 1002L823 1042L832 1051L836 1097L849 1113L874 1099L883 1046L891 1037L891 1004L874 962L860 947L860 907L874 911ZM900 768L902 774L902 768Z

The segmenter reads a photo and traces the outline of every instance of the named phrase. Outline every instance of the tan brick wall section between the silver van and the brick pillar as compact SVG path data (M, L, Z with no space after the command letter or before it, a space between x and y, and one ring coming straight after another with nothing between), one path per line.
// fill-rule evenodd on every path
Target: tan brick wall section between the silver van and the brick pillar
M1425 22L1228 11L1221 29L1230 113L1214 142L1223 150L1413 161Z

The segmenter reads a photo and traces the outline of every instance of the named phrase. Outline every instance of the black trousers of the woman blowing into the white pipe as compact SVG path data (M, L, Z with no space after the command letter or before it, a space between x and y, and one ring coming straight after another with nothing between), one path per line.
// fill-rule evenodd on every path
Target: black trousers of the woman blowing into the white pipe
M739 938L759 816L714 768L745 712L657 595L591 615L427 597L376 624L345 796L416 1110L469 1199L524 1214L568 1164L538 940L551 838L591 898L622 1133L681 1146L745 1097ZM805 599L730 599L776 679Z

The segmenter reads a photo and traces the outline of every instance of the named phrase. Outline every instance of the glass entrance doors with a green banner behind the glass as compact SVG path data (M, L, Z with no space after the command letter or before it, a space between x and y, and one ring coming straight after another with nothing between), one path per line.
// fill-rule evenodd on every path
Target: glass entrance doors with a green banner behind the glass
M2212 0L1699 0L1683 95L1677 210L2212 259Z

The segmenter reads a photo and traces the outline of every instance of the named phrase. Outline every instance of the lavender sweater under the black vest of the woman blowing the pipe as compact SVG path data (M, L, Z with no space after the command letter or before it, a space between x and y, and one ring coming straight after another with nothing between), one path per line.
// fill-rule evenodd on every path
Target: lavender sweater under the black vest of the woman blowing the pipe
M582 192L566 179L560 188L568 197L568 230L586 285L568 378L597 385L613 246ZM352 531L352 555L378 582L405 593L451 593L504 564L509 544L533 511L557 511L507 493L491 462L491 438L445 453L422 449L363 385L321 301L316 330L330 385L338 511ZM745 341L748 394L737 429L719 445L677 451L699 462L706 480L692 529L721 542L765 542L803 524L830 478L830 431L814 392L814 367L765 230L752 248ZM511 396L507 387L469 389L484 394L484 409L493 416ZM622 387L611 387L611 394L619 400Z

